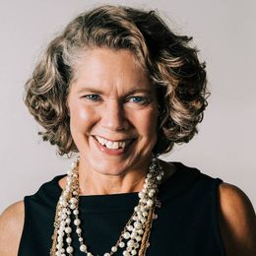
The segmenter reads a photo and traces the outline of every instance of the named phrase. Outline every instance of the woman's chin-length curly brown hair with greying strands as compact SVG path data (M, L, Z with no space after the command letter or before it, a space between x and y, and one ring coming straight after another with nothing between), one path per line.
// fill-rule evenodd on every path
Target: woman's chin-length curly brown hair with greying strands
M157 89L154 152L165 154L175 143L189 142L207 106L205 63L189 46L191 39L171 32L156 11L104 5L82 13L49 43L26 84L25 103L44 128L38 134L61 156L78 151L67 108L74 64L85 49L107 47L134 53Z

